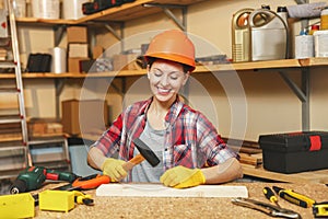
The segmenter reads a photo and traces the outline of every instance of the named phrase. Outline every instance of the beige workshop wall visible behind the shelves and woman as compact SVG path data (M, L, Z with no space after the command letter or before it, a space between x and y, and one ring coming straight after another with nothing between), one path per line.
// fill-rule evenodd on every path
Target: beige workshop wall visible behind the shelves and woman
M190 5L187 14L187 30L192 41L197 42L197 56L223 54L231 57L233 13L243 8L260 8L261 4L269 4L272 10L276 10L278 5L290 5L295 2L293 0L262 0L260 2L222 0ZM174 10L174 13L180 18L179 10ZM300 23L294 22L293 27L298 30ZM119 32L118 26L114 28ZM149 43L153 35L165 28L177 28L177 26L164 13L127 22L125 24L125 49ZM93 32L97 34L97 44L104 48L119 45L118 39L108 31L96 28ZM47 51L54 45L51 30L40 31L40 28L28 27L28 30L23 30L21 35L23 62L26 62L28 53ZM66 45L65 37L60 44ZM325 112L328 110L326 101L328 88L325 85L328 76L325 70L327 69L316 68L311 72L312 129L328 129L328 124L324 119ZM288 72L300 83L298 71ZM227 79L229 77L231 79ZM132 77L125 80L126 96L113 88L109 88L105 96L110 105L112 119L129 103L150 96L147 89L140 91L140 88L148 87L145 77ZM42 82L38 82L38 79L24 81L27 114L30 117L54 117L56 114L54 81L52 79L39 81ZM114 81L93 79L91 83L97 89L85 88L83 82L78 80L66 81L60 100L80 99L81 91L87 93L86 97L90 99L102 97L104 88L108 88L110 83L121 88L120 79ZM191 77L187 94L190 104L202 111L225 137L245 136L245 139L257 140L260 134L301 130L302 128L301 102L274 70L241 71L230 76L227 73L195 74Z

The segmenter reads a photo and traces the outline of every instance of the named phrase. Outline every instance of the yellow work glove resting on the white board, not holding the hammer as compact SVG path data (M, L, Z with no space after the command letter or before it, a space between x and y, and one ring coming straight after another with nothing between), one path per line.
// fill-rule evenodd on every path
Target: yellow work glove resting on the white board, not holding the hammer
M187 188L204 184L206 177L200 169L188 169L181 165L167 170L160 178L165 186Z

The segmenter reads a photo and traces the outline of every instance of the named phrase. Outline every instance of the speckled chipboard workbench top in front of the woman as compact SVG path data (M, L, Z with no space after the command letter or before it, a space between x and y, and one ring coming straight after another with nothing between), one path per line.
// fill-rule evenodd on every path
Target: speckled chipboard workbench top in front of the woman
M315 199L328 200L328 187L324 184L272 184L272 183L230 183L246 185L249 198L268 201L265 186L292 188ZM94 206L77 205L69 212L40 211L36 207L35 218L271 218L254 209L233 205L232 198L154 198L154 197L96 197L95 191L86 192L94 197ZM312 208L302 208L281 198L281 207L301 214L302 218L314 218Z

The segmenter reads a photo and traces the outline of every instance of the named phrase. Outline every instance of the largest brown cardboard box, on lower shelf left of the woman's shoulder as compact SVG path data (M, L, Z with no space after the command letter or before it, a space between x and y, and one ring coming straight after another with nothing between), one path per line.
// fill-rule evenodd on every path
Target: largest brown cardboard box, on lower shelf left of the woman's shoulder
M103 100L69 100L61 102L62 129L70 135L99 135L108 126L108 105Z

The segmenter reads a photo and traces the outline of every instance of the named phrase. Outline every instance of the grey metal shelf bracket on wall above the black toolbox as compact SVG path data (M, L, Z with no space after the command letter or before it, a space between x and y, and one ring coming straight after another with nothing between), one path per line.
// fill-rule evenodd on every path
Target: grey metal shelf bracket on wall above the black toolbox
M302 102L302 130L309 130L309 69L301 70L301 88L283 71L279 74Z

